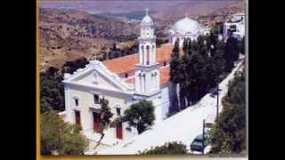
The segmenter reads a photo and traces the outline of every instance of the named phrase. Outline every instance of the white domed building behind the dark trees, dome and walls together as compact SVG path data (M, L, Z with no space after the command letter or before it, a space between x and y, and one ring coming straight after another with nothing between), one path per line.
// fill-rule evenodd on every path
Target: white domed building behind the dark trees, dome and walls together
M202 26L196 20L191 20L186 17L182 20L178 20L169 30L169 43L175 44L175 41L179 39L179 45L183 45L185 38L191 38L191 40L197 40L199 35L209 34L209 28Z

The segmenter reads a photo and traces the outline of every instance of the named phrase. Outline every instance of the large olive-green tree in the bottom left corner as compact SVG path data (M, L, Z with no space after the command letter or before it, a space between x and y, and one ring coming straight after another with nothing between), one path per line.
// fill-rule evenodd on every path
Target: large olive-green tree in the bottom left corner
M41 154L84 155L88 140L79 131L79 126L63 122L55 111L45 112L41 115Z

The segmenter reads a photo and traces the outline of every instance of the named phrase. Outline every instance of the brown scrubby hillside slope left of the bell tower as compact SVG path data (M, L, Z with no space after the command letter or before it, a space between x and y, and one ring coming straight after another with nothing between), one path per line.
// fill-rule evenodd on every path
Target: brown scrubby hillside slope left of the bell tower
M41 68L78 57L101 57L115 41L132 41L138 25L66 9L40 10Z

